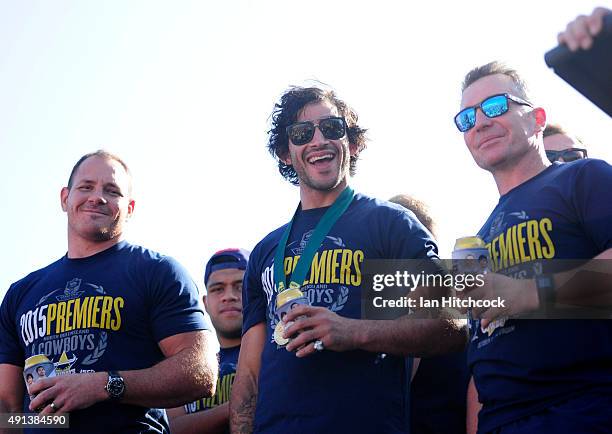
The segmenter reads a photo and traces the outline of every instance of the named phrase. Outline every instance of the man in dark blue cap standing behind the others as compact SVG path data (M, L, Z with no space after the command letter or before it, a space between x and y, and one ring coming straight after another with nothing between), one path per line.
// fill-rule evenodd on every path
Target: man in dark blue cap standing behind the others
M168 410L176 434L229 432L229 399L236 376L242 333L242 281L249 260L244 249L216 252L206 263L204 307L219 341L219 379L210 398Z

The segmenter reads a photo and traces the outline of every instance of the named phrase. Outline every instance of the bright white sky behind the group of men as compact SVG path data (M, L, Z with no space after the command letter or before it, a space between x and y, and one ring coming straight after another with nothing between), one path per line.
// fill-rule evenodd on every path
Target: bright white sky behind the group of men
M59 192L98 148L134 174L128 239L176 257L202 286L214 251L252 249L291 217L298 189L265 149L268 116L311 79L369 129L353 185L428 202L448 256L498 196L452 122L472 67L509 61L549 120L612 161L610 118L543 60L596 5L0 0L0 299L65 253Z

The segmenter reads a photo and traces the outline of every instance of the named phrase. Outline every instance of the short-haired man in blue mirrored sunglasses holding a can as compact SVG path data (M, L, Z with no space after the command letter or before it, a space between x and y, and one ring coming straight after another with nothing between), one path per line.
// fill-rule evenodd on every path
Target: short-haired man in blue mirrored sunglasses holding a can
M551 165L542 143L544 109L531 102L518 73L498 62L466 75L454 120L500 193L478 232L493 273L467 294L506 301L505 308L470 313L468 364L483 404L478 430L609 430L612 323L512 316L561 303L588 305L580 296L584 286L570 283L597 265L589 259L612 258L612 167L596 159ZM586 264L558 272L560 261L551 259Z

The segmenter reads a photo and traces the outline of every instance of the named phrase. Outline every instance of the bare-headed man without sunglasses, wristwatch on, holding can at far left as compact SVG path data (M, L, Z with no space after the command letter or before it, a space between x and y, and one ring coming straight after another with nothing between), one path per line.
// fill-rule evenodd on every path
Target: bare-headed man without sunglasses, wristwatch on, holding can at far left
M0 307L0 413L43 408L70 413L71 432L162 433L164 407L214 391L197 288L174 259L124 240L134 204L119 157L97 151L74 166L61 191L67 254L11 285ZM26 391L24 361L39 354L62 374Z

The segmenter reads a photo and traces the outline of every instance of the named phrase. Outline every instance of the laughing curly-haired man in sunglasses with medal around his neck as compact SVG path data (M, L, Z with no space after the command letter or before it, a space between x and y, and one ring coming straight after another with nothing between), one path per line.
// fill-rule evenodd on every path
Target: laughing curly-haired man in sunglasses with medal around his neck
M365 259L437 258L414 214L348 187L365 146L357 114L332 91L294 87L276 105L268 149L300 205L250 257L232 432L407 433L407 356L465 343L442 320L361 319ZM282 317L286 286L310 306Z

